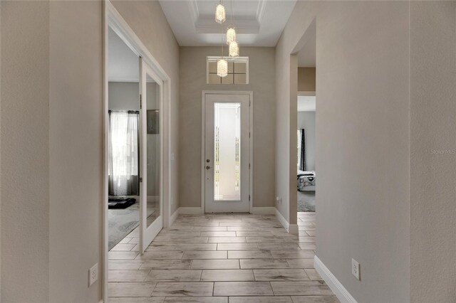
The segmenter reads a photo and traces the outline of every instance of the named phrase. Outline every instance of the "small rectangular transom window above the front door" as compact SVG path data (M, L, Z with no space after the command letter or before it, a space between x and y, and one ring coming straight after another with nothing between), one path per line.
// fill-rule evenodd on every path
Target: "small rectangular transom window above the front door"
M207 57L207 84L249 84L249 57L224 57L228 61L228 75L223 78L217 75L217 60L221 58Z

